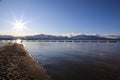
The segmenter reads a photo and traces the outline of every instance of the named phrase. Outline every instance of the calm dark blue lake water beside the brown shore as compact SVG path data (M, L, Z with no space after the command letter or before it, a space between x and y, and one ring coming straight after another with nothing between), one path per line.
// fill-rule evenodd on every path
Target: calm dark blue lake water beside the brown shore
M120 80L120 43L23 44L52 80Z

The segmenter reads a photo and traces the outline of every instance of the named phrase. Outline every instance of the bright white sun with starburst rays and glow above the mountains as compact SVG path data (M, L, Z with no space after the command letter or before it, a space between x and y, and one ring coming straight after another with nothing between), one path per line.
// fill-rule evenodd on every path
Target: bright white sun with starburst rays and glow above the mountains
M30 34L34 34L32 29L28 28L28 23L31 23L30 20L23 20L23 16L20 19L17 19L13 16L14 21L8 21L11 26L11 34L13 36L26 36ZM19 40L18 40L19 41Z

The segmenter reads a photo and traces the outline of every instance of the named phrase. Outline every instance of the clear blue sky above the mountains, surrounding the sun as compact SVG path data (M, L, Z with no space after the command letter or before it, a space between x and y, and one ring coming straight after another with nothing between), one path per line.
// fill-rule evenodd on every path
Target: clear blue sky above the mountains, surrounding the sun
M22 19L16 33L10 22ZM120 34L120 0L1 0L0 34Z

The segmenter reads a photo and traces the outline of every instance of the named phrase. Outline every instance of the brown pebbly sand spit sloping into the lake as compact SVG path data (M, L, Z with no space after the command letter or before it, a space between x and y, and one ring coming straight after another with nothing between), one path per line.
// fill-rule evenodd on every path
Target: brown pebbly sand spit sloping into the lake
M22 44L0 47L0 80L48 80Z

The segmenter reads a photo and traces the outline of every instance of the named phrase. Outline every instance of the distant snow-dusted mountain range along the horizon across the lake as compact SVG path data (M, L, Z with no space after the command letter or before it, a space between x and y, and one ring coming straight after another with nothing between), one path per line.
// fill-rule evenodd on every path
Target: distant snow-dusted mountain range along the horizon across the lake
M32 36L11 36L0 35L1 40L13 39L26 39L26 40L120 40L120 35L74 35L74 36L54 36L54 35L32 35Z

